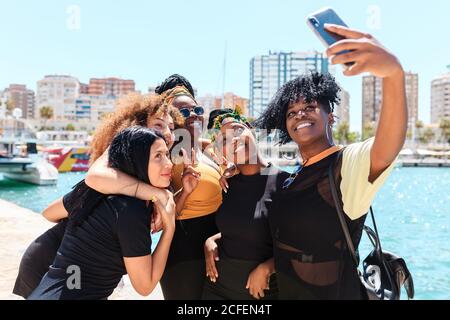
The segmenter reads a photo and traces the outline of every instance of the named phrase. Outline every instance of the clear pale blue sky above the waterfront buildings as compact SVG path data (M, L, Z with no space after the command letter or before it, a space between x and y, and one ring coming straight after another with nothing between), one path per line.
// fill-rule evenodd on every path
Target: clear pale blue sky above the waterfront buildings
M70 74L82 82L133 79L146 91L177 72L200 95L220 94L227 42L226 91L248 97L251 57L323 50L304 21L322 6L419 73L419 117L428 122L430 82L450 65L448 0L0 0L0 88L24 83L35 90L46 74ZM351 127L359 130L361 78L345 78L340 67L336 75L350 92Z

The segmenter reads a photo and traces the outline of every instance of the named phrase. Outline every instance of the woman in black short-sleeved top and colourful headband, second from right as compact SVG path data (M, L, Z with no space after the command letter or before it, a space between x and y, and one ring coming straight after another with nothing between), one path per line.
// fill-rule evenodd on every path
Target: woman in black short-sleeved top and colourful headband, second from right
M239 173L223 181L223 202L216 215L220 233L205 243L203 299L277 298L266 208L277 170L260 157L250 128L237 110L214 122L217 153L235 163Z

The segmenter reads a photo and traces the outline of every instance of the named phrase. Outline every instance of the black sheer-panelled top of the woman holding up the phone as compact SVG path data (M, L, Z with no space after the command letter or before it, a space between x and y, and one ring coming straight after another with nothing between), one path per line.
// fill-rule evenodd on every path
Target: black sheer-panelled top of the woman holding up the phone
M269 223L280 299L362 299L356 267L335 209L328 180L329 165L340 185L342 152L305 167L295 182L272 195ZM340 188L338 188L340 194ZM358 247L365 216L347 224Z

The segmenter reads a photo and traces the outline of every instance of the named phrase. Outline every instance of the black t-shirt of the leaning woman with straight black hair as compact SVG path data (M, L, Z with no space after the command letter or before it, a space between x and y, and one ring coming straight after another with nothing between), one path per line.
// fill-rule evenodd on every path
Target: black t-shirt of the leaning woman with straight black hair
M73 207L71 199L76 201L65 197L66 208ZM152 207L145 201L102 197L92 210L79 225L69 220L55 261L31 299L106 299L126 274L123 258L151 254ZM71 266L80 270L81 289L67 288Z

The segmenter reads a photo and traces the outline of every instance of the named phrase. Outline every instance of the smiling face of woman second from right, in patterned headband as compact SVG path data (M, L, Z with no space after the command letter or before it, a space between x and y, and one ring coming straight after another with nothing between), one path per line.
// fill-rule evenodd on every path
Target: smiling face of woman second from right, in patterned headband
M216 143L228 161L237 165L256 163L255 138L249 128L243 124L230 122L223 125Z

